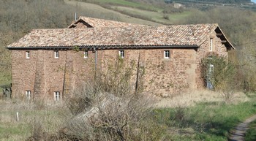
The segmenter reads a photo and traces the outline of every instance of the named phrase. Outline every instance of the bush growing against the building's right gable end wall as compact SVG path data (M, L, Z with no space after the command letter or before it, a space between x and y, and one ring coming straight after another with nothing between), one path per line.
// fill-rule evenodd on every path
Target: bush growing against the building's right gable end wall
M223 56L210 56L202 61L203 78L208 88L221 94L230 102L237 91L236 67Z

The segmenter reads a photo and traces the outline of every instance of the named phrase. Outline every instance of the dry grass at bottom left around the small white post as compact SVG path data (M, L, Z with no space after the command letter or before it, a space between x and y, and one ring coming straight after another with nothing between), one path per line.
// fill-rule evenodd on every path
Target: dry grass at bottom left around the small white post
M64 111L59 108L62 105L0 100L0 140L26 140L39 124L42 125L42 132L56 132L63 120Z

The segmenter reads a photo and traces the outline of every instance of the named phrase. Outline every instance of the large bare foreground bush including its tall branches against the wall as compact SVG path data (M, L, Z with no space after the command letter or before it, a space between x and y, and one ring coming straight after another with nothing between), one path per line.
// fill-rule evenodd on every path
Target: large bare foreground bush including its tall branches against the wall
M131 62L134 64L134 62ZM68 103L73 114L59 137L66 140L161 140L164 129L151 119L152 97L132 91L134 65L118 60Z

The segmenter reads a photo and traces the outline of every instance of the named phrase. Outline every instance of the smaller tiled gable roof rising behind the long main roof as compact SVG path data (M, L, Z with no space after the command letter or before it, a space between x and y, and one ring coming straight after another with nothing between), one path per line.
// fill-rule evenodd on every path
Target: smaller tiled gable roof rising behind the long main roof
M129 27L129 26L145 26L145 25L80 16L80 18L75 22L73 22L70 26L68 26L68 28L91 28L91 27L100 28L100 27Z

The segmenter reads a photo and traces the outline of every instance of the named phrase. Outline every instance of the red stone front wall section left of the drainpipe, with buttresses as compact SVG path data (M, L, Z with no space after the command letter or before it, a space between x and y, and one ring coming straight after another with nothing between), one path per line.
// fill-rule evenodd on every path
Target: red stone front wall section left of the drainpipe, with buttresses
M26 58L26 50L12 50L13 96L25 97L31 91L32 97L54 99L54 91L59 91L62 98L91 76L91 51L89 58L83 58L83 51L59 50L59 58L54 58L53 50L30 52L31 58Z

